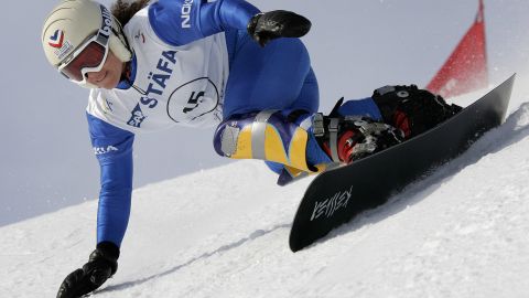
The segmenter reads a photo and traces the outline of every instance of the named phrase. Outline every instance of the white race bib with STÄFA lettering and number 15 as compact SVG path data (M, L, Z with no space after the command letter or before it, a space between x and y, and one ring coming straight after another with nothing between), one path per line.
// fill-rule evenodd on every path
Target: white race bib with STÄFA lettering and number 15
M156 36L147 9L123 31L136 55L133 87L91 89L88 114L132 132L222 121L229 73L224 33L172 46Z

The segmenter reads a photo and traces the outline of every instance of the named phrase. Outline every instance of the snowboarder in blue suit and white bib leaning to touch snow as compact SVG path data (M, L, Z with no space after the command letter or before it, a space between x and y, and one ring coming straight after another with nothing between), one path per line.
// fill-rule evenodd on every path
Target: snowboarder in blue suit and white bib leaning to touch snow
M458 107L415 86L387 86L317 113L319 87L298 39L311 22L244 0L61 2L42 31L47 61L90 88L89 135L100 164L97 246L57 297L79 297L118 268L132 191L134 134L217 127L215 150L262 159L280 182L401 142Z

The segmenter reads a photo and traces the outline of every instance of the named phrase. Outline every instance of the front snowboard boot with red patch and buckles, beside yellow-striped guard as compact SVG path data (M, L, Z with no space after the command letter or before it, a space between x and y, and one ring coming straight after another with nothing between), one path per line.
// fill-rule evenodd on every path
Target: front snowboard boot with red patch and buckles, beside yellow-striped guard
M342 116L339 100L328 116L316 114L313 134L334 162L350 163L404 140L404 134L388 124L361 116Z

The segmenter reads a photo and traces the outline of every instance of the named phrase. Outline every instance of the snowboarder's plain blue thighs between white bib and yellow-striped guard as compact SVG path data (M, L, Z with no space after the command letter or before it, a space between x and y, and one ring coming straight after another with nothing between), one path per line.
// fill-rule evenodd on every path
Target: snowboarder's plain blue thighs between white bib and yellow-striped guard
M317 109L317 82L309 53L298 39L279 39L260 47L247 34L239 35L230 61L224 100L224 118L266 109ZM309 74L316 86L309 93Z

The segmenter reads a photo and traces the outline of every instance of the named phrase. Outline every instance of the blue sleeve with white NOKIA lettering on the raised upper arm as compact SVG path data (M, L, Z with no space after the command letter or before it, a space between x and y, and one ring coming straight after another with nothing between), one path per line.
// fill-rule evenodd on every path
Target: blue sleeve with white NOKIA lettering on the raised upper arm
M184 45L226 31L246 30L259 9L244 0L160 0L149 7L149 22L170 45Z

